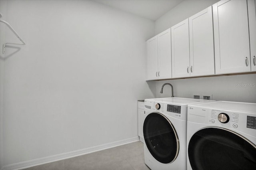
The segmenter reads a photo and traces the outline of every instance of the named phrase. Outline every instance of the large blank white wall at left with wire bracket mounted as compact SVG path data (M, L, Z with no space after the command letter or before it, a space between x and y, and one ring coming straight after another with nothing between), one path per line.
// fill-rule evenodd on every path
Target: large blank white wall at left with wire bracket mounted
M93 1L0 3L26 42L1 54L1 167L138 138L137 100L155 93L145 81L154 22ZM6 41L18 42L7 29Z

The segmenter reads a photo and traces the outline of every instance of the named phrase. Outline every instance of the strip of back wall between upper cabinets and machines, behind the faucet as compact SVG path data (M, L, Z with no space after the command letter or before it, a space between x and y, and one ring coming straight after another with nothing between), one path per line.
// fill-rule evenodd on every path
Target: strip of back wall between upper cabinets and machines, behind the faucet
M160 93L164 83L173 85L175 97L212 95L213 100L256 103L256 74L157 81L156 97L171 96L171 88L168 85L164 86L163 93Z

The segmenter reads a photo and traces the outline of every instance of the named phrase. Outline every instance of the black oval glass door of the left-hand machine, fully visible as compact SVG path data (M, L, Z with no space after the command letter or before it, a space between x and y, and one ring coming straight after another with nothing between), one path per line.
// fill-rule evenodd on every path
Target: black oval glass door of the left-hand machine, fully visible
M143 126L144 142L152 156L162 163L173 162L178 156L178 135L172 123L160 113L150 113Z

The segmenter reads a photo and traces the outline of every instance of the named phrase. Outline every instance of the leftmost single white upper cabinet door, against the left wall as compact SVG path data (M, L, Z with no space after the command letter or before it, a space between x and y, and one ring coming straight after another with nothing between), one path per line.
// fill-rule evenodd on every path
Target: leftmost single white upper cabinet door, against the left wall
M147 41L147 79L158 79L157 36Z

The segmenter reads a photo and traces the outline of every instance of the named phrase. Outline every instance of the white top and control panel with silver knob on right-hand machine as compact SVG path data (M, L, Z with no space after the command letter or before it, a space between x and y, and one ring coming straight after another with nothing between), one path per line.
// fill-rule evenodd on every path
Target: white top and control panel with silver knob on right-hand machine
M188 105L188 122L256 134L256 103L215 101Z

